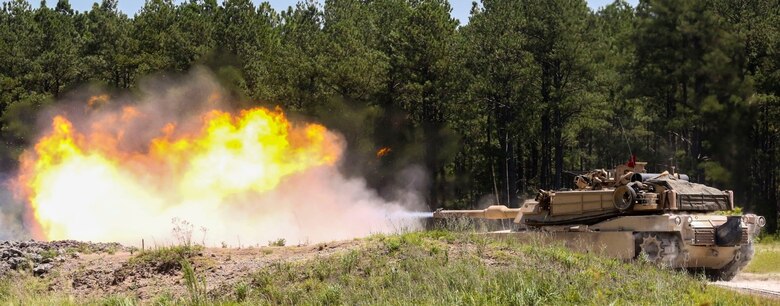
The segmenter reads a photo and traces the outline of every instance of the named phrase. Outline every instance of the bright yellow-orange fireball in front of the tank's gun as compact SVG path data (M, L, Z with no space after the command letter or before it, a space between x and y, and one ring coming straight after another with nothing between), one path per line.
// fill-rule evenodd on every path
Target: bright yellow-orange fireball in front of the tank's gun
M285 177L336 163L340 143L318 124L294 125L276 109L210 111L194 132L169 122L142 150L117 123L143 118L126 107L79 131L64 116L21 158L17 177L38 239L129 241L123 222L166 210L219 210L231 197L275 188ZM192 129L190 129L192 130Z

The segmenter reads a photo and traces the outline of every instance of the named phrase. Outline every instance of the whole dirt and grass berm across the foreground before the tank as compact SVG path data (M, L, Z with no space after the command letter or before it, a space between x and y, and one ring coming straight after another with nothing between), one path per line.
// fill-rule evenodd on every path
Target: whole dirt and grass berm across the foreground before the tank
M145 252L118 244L7 242L0 254L2 304L778 302L650 263L448 231L307 246ZM9 262L16 264L11 268Z

